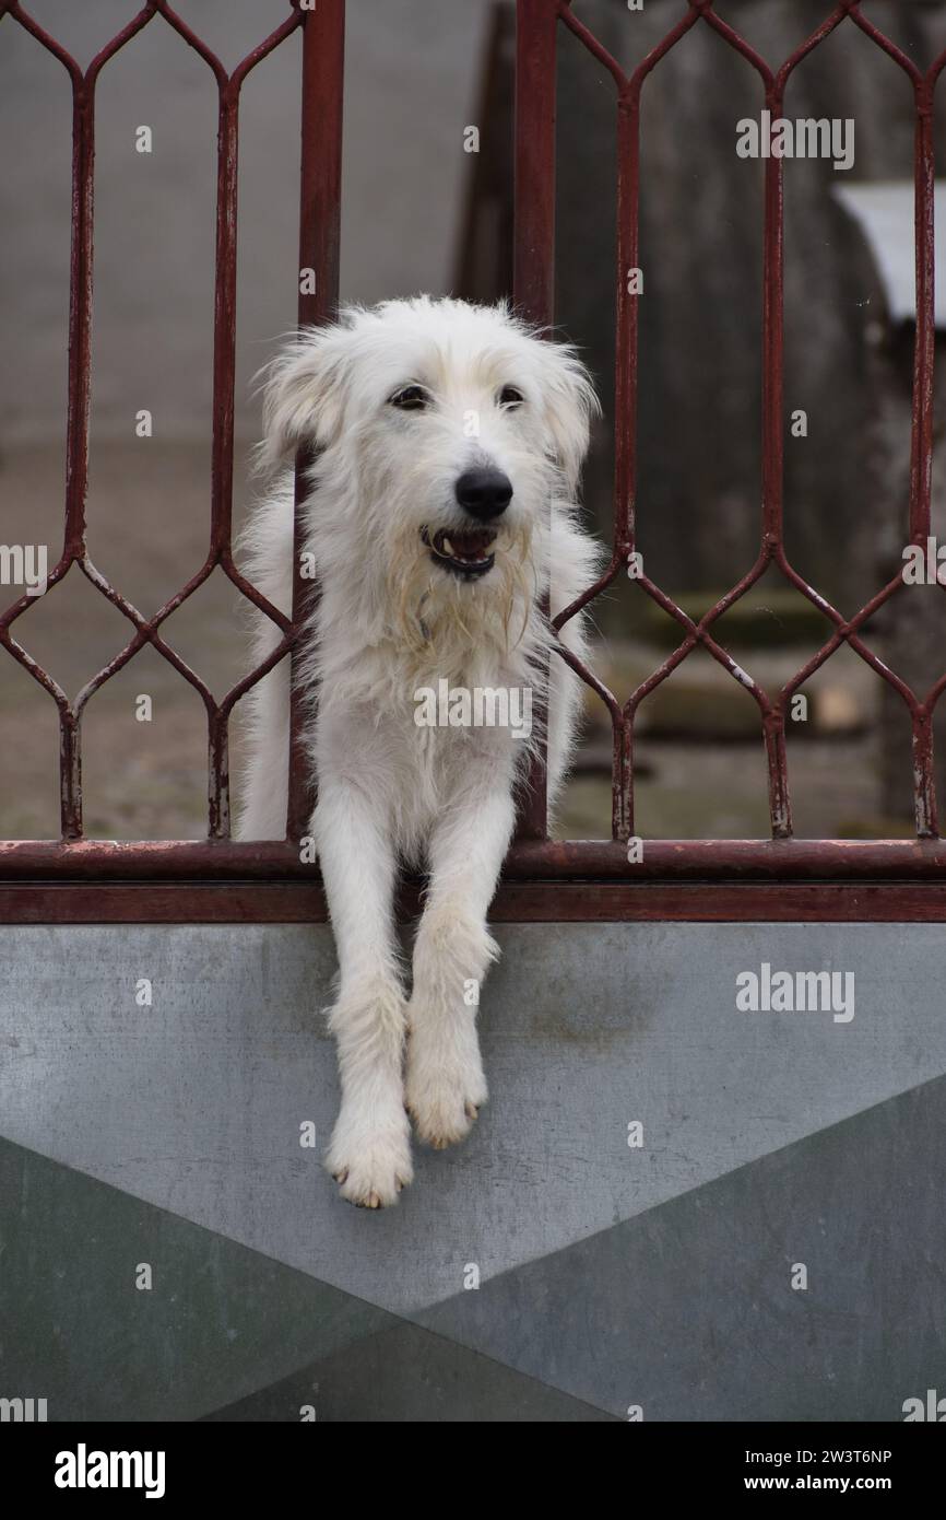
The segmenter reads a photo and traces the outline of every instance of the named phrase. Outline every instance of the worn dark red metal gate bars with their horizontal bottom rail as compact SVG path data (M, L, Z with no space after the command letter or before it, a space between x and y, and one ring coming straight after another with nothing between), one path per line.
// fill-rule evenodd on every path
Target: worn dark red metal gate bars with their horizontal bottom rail
M53 678L26 652L15 637L18 620L33 597L23 596L0 616L0 644L55 701L61 733L61 841L55 844L0 842L0 914L12 918L47 917L128 917L118 907L108 883L138 883L138 917L267 917L260 897L263 883L299 883L305 889L301 917L323 910L317 888L311 886L313 868L299 860L298 839L304 833L310 796L308 778L299 745L301 711L293 705L290 765L290 806L287 838L272 844L234 844L229 841L228 728L237 701L279 660L295 660L296 629L304 614L304 590L298 584L293 617L284 617L238 572L232 558L232 464L234 464L234 357L235 357L235 280L237 280L237 152L238 108L243 81L275 47L293 32L302 33L302 172L299 217L299 264L316 274L316 293L301 295L299 321L320 322L331 316L339 290L339 223L343 105L345 0L289 0L289 15L238 65L228 73L220 59L173 11L167 0L146 0L138 14L99 52L82 71L30 15L20 0L0 0L0 20L18 24L47 49L65 68L73 93L73 231L71 286L68 318L68 430L65 482L65 538L62 556L49 575L56 585L77 567L131 623L125 649L99 670L70 701ZM577 0L575 0L577 3ZM616 0L615 0L616 3ZM568 619L588 606L601 591L626 573L635 553L636 491L636 403L638 403L638 296L630 292L627 271L639 263L638 204L641 192L641 93L654 68L694 26L712 27L743 56L761 84L759 108L780 116L785 85L803 59L838 26L858 27L911 82L916 111L916 280L917 325L913 377L913 436L910 476L910 540L923 544L931 518L932 465L932 362L934 362L934 93L946 65L943 52L926 71L920 71L878 27L861 14L858 0L838 0L821 26L777 68L767 64L721 17L712 0L679 0L679 18L665 38L641 64L626 73L577 14L572 0L518 0L516 17L516 126L515 126L515 299L522 313L539 324L554 319L554 179L556 179L556 50L562 29L569 30L610 74L616 96L618 134L618 239L616 239L616 456L613 483L613 550L610 562L595 585L556 617L560 629ZM211 524L207 559L200 570L153 614L144 617L94 565L85 535L85 496L88 473L88 407L91 377L91 302L93 302L93 178L94 178L94 102L102 68L132 38L152 23L170 26L211 70L219 96L217 160L217 237L214 310L214 420ZM0 33L2 41L2 33ZM700 882L767 883L888 883L867 898L841 898L843 886L826 895L809 889L773 897L768 907L780 915L793 900L796 912L811 917L944 917L946 847L938 838L937 798L932 766L932 713L946 673L922 696L908 687L870 649L864 625L885 602L902 590L896 576L850 619L844 619L820 591L791 565L784 541L784 249L782 249L780 158L765 160L764 198L764 321L762 321L762 515L761 543L755 565L697 623L647 575L636 579L639 591L654 600L680 626L674 652L642 681L626 701L612 693L574 655L562 658L604 702L613 730L612 838L610 841L557 844L547 838L545 774L542 757L536 762L521 830L506 871L500 903L509 915L516 912L580 914L585 901L589 917L635 917L654 912L664 917L750 917L759 912L759 898L741 898L717 891L714 910L698 894ZM164 641L161 626L220 567L238 591L261 608L282 632L282 640L267 661L246 675L220 701L216 701L200 675ZM715 640L714 625L759 578L776 567L788 585L808 597L834 625L823 648L770 696L749 676ZM296 578L299 582L299 578ZM84 839L82 830L82 749L80 725L87 704L144 646L167 660L182 679L200 695L208 722L208 836L202 842L109 844ZM913 727L913 772L916 841L797 841L793 838L785 716L791 698L841 644L850 646L870 669L897 692ZM729 675L753 696L765 745L771 838L768 841L648 841L644 859L627 862L626 841L633 834L635 717L641 702L664 682L692 651L703 648ZM26 883L76 883L68 909L61 907L52 888ZM583 883L601 883L589 888ZM647 883L662 882L667 891L654 895ZM923 888L907 883L926 883ZM14 885L17 883L17 885ZM94 883L99 883L97 891ZM170 883L179 883L169 897ZM214 895L213 883L255 883L225 900ZM516 886L516 883L521 883ZM686 891L683 891L686 883ZM902 889L899 885L902 885ZM528 885L528 886L527 886ZM680 886L674 898L673 888ZM150 892L147 888L150 886ZM644 900L635 889L651 895ZM944 886L946 889L946 886ZM787 888L787 892L790 889ZM531 897L530 897L531 892ZM93 895L90 895L93 894ZM314 894L314 895L311 895ZM516 895L518 894L518 895ZM85 907L82 906L85 901ZM128 892L123 901L128 901ZM272 906L275 898L267 900ZM282 901L282 900L281 900ZM302 898L298 898L302 901ZM674 909L677 901L677 909ZM226 906L226 903L229 906ZM519 904L518 907L515 904ZM216 906L214 906L216 904ZM539 907L539 904L544 904ZM571 904L571 906L569 906ZM780 906L779 906L780 904ZM834 904L834 906L832 906ZM275 910L275 909L273 909ZM287 906L279 914L295 917Z

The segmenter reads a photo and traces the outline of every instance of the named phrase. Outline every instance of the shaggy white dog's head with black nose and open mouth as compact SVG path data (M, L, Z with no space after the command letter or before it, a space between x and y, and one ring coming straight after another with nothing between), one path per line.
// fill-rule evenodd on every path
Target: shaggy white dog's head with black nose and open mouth
M504 307L386 301L305 330L270 365L263 459L319 450L328 500L313 521L326 514L375 596L383 584L401 606L421 599L428 620L469 614L534 570L536 529L550 497L574 497L595 406L574 350Z

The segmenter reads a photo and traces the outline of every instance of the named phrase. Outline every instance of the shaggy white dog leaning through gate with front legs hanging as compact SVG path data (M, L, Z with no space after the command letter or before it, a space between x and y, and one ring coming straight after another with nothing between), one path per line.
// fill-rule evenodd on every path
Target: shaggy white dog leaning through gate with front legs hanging
M595 407L571 348L504 307L427 296L346 310L267 369L263 464L299 444L317 450L304 549L320 602L302 672L319 787L311 833L340 967L330 1024L342 1108L326 1164L343 1198L369 1208L412 1180L408 1114L442 1148L468 1134L487 1096L475 1028L497 956L486 914L530 745L475 713L490 701L490 716L528 707L504 693L547 698L554 803L580 681L550 658L541 599L548 591L554 616L594 579L575 488ZM289 613L290 473L258 506L244 549L249 579ZM255 660L279 637L260 616ZM583 655L582 617L560 640ZM431 714L445 710L440 727ZM241 838L285 836L287 752L284 660L252 695ZM410 996L399 862L428 874Z

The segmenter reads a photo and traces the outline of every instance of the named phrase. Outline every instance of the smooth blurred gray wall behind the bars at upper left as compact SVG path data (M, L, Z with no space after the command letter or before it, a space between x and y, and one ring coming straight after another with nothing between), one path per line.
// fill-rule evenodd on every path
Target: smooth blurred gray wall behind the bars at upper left
M85 65L135 0L30 0ZM179 0L232 68L285 0ZM343 295L446 289L487 0L348 0ZM135 152L135 128L153 152ZM61 441L65 410L71 108L65 70L0 23L0 447ZM205 436L211 409L216 84L156 17L97 91L94 436ZM237 426L249 377L296 315L299 38L246 81L241 102Z

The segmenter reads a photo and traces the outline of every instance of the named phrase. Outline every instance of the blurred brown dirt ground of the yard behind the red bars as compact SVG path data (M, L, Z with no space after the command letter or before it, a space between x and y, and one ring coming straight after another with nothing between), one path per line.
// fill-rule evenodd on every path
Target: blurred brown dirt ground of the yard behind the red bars
M153 447L150 447L153 442ZM90 550L97 567L138 606L152 613L203 561L210 520L210 454L205 445L150 441L93 450ZM237 521L246 500L246 448L238 450ZM47 543L55 564L62 541L62 458L58 448L21 448L0 461L0 540ZM2 590L3 602L14 591ZM200 672L216 695L243 673L240 597L220 573L166 625L167 641ZM132 635L120 613L71 570L15 625L15 637L70 695ZM620 695L654 669L664 652L613 637L595 654L595 669ZM767 686L805 658L797 651L743 655ZM676 682L676 687L674 687ZM837 731L811 725L790 743L796 830L806 836L908 833L881 819L876 765L875 678L853 655L838 655L812 687L828 708L838 701L847 720ZM752 702L708 658L685 661L667 687L683 713L714 693L706 733L647 736L638 745L636 831L647 838L764 838L768 833L765 765ZM135 717L137 698L152 699L152 720ZM717 701L718 699L718 701ZM739 707L738 719L733 702ZM647 705L647 704L645 704ZM664 701L667 728L668 699ZM654 707L654 713L657 708ZM607 838L609 736L597 698L556 833ZM712 714L720 714L715 722ZM729 714L729 716L726 716ZM853 714L853 716L852 716ZM723 720L723 717L726 720ZM653 725L651 725L653 727ZM657 728L661 724L657 722ZM686 728L686 722L677 727ZM714 731L715 730L715 731ZM721 742L718 731L730 737ZM58 834L58 724L52 699L0 651L0 836ZM817 733L812 737L812 733ZM232 743L238 789L238 734ZM143 651L91 699L84 722L85 827L91 838L197 839L205 833L207 724L197 693L153 651Z

